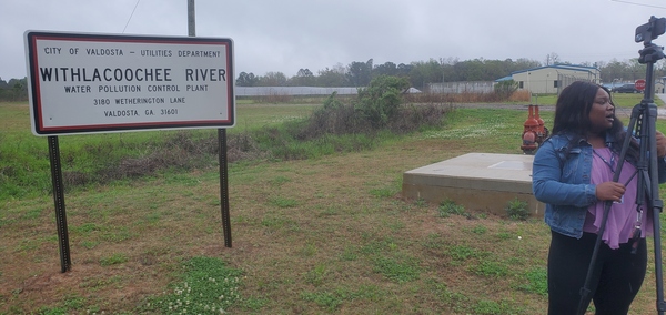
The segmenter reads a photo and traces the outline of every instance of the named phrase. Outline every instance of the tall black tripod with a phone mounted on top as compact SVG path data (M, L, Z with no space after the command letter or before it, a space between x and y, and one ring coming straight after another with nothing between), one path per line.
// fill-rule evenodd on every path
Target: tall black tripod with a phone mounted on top
M664 33L666 28L666 19L650 18L650 22L638 27L636 29L636 41L644 41L644 49L639 51L640 58L639 63L647 64L646 69L646 84L644 98L639 104L634 106L632 110L632 116L629 124L627 125L627 136L623 143L619 161L625 161L629 144L632 141L632 131L634 136L640 140L639 142L639 154L638 161L636 162L637 171L637 190L636 190L636 204L639 207L644 201L647 201L646 209L652 209L653 212L653 231L654 231L654 252L655 252L655 277L657 286L657 312L664 314L666 311L666 304L664 302L664 284L663 284L663 272L662 272L662 241L660 241L660 223L659 214L663 209L663 201L659 200L659 181L658 181L658 165L657 165L657 143L655 139L656 134L656 119L657 119L657 105L654 103L654 64L659 59L664 58L664 51L662 47L657 47L652 43L653 39L656 39L659 34ZM613 176L614 182L619 181L619 174L622 173L623 162L618 163L617 170ZM645 197L644 197L645 196ZM585 284L581 288L581 302L578 304L578 314L585 314L587 308L587 301L589 298L589 283L592 282L592 273L594 265L597 260L599 245L602 237L606 228L606 222L608 219L608 212L610 211L612 201L606 201L604 204L604 213L602 216L602 225L597 233L596 243L592 253L592 260L587 270L587 276L585 277ZM638 234L639 236L639 234ZM637 242L637 241L636 241Z

